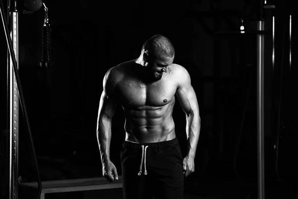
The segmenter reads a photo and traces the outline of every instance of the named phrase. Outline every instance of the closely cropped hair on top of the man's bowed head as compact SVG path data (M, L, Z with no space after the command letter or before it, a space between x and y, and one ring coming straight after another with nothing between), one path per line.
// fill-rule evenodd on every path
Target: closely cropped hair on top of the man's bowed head
M142 50L148 50L156 54L162 54L167 57L175 56L175 49L172 42L165 36L161 34L154 35L150 37L142 47Z

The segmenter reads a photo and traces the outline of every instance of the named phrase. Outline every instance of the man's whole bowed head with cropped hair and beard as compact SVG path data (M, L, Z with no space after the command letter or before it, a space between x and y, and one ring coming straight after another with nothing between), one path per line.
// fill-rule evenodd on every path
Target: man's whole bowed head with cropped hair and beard
M154 80L160 80L163 72L174 61L175 50L171 41L163 35L154 35L142 47L143 60Z

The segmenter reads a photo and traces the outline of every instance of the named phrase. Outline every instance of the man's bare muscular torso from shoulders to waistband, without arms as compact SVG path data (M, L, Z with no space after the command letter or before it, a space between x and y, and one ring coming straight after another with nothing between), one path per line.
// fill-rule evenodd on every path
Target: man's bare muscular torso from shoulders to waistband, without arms
M172 111L177 81L173 76L175 65L168 66L158 81L146 83L136 70L136 63L118 66L117 97L125 112L126 140L152 143L175 138ZM145 74L146 75L146 74Z

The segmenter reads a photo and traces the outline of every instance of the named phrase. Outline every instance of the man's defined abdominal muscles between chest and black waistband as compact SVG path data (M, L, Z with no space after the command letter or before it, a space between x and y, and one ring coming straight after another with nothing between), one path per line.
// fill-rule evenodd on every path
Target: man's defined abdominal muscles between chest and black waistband
M172 118L173 106L141 106L125 110L126 141L154 143L175 138L175 124Z

